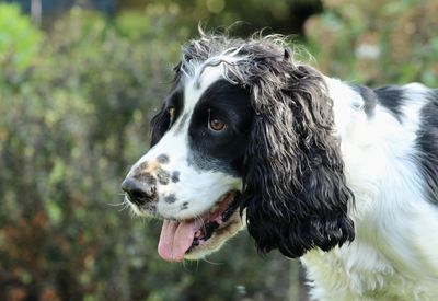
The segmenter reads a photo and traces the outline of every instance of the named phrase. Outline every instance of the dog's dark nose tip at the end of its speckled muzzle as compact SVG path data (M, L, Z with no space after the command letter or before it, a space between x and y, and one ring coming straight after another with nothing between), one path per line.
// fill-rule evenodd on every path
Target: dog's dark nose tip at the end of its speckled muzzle
M122 189L128 194L129 200L136 205L145 205L155 198L155 185L127 177L122 183Z

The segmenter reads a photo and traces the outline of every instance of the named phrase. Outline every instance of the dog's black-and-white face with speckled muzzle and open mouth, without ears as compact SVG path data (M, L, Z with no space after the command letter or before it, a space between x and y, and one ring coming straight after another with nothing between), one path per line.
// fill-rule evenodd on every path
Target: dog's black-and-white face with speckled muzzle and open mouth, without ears
M164 219L164 259L200 257L243 227L235 198L253 114L249 91L217 69L177 78L155 116L153 147L124 183L137 213Z

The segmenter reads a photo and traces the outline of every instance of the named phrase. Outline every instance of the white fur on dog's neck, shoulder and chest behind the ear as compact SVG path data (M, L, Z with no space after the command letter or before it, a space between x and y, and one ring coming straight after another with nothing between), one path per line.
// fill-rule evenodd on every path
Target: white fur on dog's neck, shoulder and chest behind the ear
M438 208L426 201L411 155L426 88L405 85L399 123L378 106L367 118L360 95L325 78L334 100L347 182L356 196L356 239L301 261L316 300L438 300ZM353 94L351 94L353 93ZM438 116L437 116L438 117Z

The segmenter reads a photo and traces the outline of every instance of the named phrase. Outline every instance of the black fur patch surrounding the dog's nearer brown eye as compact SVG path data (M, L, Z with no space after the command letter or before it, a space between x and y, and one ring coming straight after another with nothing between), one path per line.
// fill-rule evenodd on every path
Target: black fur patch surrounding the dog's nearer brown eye
M197 102L191 119L188 164L201 171L241 174L252 116L246 89L224 80L211 84ZM226 128L211 130L208 123L212 118L226 123Z

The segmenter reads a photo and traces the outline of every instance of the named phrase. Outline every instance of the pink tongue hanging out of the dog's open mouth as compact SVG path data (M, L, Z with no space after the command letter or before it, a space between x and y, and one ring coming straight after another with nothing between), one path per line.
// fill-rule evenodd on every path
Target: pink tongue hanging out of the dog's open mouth
M164 220L161 228L158 253L169 262L181 262L185 252L192 246L195 232L201 227L201 221L171 221Z

